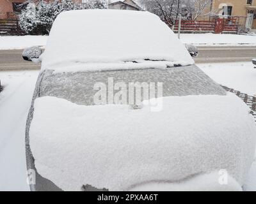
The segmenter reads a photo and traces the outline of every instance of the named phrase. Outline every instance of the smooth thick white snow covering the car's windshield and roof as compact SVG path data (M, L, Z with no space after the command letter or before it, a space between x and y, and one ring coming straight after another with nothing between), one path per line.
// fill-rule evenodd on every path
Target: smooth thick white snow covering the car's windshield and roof
M146 11L76 10L58 15L42 69L69 64L165 60L194 64L177 35Z

